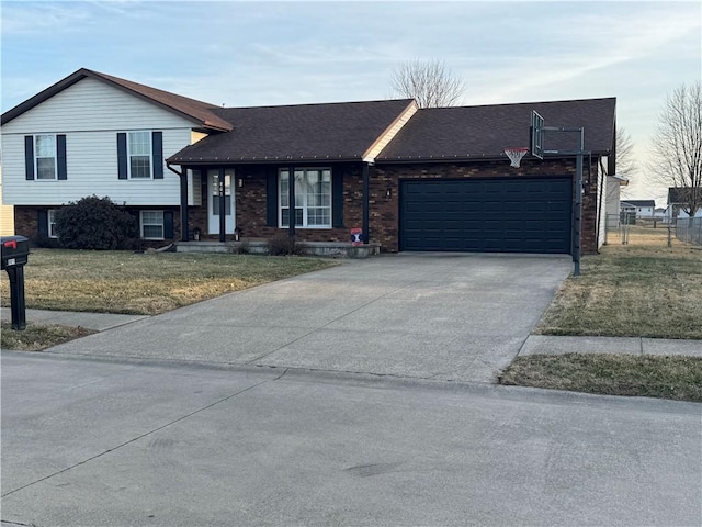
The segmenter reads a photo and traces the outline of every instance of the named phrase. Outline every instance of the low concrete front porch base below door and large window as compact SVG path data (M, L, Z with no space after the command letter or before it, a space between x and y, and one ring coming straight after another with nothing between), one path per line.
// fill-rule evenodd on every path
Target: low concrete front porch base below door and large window
M297 242L297 246L308 256L330 258L369 258L380 254L378 244L353 245L349 242ZM248 251L252 255L268 254L269 242L262 238L240 242L178 242L177 253L233 253Z

